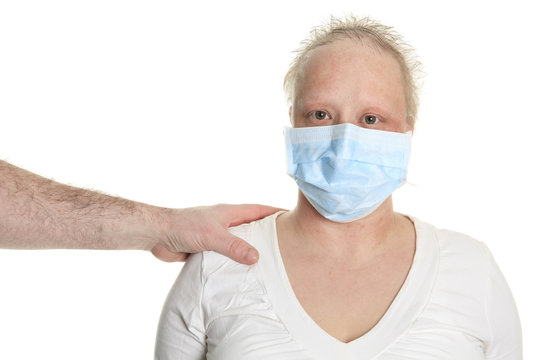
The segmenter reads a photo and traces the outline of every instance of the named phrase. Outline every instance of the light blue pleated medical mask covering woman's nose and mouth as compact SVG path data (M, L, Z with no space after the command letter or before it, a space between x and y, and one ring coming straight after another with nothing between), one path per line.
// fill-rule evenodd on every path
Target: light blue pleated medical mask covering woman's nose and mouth
M286 127L287 174L328 220L358 220L405 183L411 137L348 123Z

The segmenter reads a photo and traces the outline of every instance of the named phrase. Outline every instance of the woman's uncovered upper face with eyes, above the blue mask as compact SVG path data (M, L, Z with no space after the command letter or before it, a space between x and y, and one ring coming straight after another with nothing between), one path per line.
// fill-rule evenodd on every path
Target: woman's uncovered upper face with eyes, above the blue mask
M386 51L344 39L309 54L290 109L294 127L351 123L394 132L407 123L399 63Z

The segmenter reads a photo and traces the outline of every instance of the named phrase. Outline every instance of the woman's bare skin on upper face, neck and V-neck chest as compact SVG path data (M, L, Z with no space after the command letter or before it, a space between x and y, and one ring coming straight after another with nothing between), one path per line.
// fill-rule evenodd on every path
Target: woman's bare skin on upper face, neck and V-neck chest
M398 62L368 42L337 40L314 49L290 109L294 127L352 123L407 132ZM392 198L350 223L325 219L299 192L277 219L280 251L295 295L329 335L347 343L384 316L403 285L415 253L412 221Z

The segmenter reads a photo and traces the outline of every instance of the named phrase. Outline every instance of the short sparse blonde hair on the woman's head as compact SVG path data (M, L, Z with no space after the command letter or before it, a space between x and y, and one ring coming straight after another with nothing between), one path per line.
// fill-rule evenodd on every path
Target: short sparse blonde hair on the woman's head
M417 77L421 71L421 64L416 59L414 49L403 40L400 34L395 32L392 27L383 25L369 17L348 16L343 20L331 17L327 24L311 30L309 38L302 41L300 48L295 51L296 57L283 81L283 89L289 105L293 104L297 82L301 77L301 71L309 53L319 46L346 38L357 39L361 42L368 40L371 45L387 51L396 59L401 68L405 87L407 122L414 127L418 113Z

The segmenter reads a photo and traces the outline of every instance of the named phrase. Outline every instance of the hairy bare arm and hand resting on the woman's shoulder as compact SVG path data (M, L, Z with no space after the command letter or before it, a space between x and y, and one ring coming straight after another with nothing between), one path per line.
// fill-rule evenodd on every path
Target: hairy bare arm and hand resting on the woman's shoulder
M257 250L227 228L277 210L161 208L63 185L0 161L0 249L147 250L163 261L214 250L251 265Z

